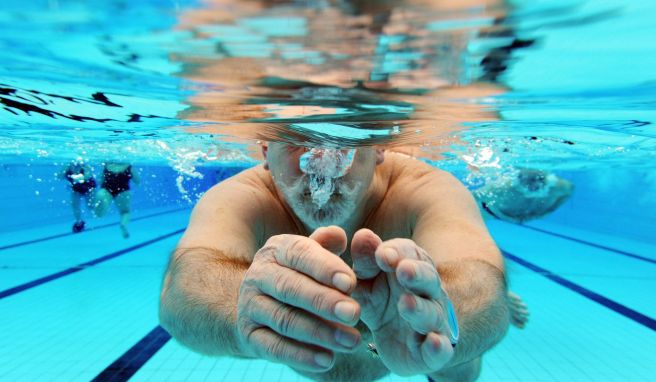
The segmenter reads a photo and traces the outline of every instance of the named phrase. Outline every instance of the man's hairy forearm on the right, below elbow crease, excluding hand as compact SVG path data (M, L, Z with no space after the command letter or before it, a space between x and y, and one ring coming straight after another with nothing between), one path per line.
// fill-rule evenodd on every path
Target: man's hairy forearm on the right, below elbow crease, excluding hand
M447 262L438 267L451 299L460 339L446 369L479 357L505 335L510 315L503 272L481 260Z

